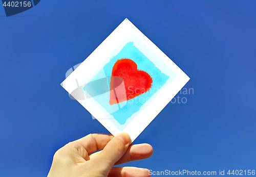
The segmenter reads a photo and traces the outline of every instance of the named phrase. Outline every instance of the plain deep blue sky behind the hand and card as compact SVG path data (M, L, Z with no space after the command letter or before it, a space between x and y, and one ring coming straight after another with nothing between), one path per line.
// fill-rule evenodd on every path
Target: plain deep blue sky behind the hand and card
M41 1L0 7L0 176L46 176L55 151L108 133L60 86L129 18L191 78L186 104L169 103L135 143L161 170L256 170L255 1ZM177 97L177 96L176 96Z

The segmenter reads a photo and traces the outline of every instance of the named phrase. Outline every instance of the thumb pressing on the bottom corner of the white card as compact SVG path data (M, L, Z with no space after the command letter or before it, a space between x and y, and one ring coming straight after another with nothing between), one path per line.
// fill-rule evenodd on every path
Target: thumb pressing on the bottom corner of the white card
M96 161L99 166L107 167L110 171L112 166L124 155L130 143L131 138L127 133L119 133L91 161Z

